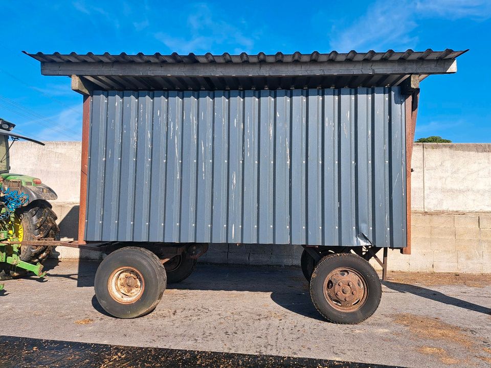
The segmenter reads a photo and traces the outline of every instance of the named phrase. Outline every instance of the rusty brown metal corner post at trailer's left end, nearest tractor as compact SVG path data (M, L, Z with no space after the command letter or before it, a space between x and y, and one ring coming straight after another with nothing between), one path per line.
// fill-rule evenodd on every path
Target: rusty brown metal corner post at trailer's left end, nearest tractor
M78 243L85 244L85 214L87 212L88 136L91 120L91 96L83 96L82 158L80 165L80 208L78 214Z

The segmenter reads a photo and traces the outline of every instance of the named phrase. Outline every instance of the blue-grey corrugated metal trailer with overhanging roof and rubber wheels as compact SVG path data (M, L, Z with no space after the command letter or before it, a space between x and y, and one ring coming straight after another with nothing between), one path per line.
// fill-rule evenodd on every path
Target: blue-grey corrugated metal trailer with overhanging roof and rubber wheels
M26 53L83 95L78 241L37 242L104 251L95 294L120 318L208 244L301 245L320 314L360 323L382 295L368 261L385 278L387 249L410 253L419 82L464 52Z

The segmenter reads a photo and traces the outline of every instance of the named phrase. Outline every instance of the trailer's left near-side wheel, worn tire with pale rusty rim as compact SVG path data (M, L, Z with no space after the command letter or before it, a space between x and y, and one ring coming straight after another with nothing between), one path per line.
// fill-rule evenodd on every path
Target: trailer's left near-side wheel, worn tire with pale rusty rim
M150 250L124 247L111 252L99 265L94 280L97 300L118 318L136 318L159 304L167 277L159 258Z

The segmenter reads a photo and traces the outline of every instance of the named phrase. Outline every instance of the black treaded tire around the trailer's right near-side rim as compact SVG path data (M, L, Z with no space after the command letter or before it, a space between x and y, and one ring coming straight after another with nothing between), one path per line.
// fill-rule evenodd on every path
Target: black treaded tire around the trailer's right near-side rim
M349 267L365 278L367 300L359 310L341 312L332 308L324 296L324 281L327 275L339 267ZM375 269L362 257L351 253L338 253L322 258L310 279L310 298L319 313L328 321L336 324L359 324L370 317L378 308L382 298L382 285Z

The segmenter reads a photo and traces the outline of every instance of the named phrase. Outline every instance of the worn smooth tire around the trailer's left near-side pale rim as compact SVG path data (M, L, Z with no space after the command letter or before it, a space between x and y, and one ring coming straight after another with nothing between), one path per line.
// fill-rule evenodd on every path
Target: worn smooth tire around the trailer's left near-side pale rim
M135 267L142 273L145 288L139 300L122 304L110 296L109 276L119 267ZM101 307L118 318L137 318L150 313L159 304L167 286L167 277L159 258L148 249L124 247L111 252L96 271L94 291Z

